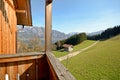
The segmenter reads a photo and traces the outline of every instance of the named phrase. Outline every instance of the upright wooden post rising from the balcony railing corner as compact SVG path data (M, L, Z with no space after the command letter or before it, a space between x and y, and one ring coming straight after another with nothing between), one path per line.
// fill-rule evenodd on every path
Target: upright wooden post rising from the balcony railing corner
M46 0L45 5L45 51L52 48L52 1Z

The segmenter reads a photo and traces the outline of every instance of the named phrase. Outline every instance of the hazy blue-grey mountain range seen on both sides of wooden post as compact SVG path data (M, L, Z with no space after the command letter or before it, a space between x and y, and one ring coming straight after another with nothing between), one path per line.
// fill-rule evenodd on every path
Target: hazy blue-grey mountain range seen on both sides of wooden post
M45 42L45 28L44 27L24 27L21 28L21 26L17 26L18 28L18 40L22 41L28 41L35 36L39 37L42 44L44 45ZM63 32L57 31L57 30L52 30L52 43L58 41L58 40L63 40L68 38L69 36Z

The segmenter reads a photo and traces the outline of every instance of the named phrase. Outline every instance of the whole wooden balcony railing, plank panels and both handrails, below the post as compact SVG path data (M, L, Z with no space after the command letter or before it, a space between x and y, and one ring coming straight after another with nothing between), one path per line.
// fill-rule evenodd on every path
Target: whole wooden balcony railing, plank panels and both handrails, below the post
M0 80L75 80L52 53L0 56Z

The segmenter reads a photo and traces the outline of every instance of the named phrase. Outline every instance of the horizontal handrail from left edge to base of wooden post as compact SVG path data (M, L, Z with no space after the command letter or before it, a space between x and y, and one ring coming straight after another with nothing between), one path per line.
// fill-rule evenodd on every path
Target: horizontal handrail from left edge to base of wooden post
M1 54L0 55L0 63L38 59L38 58L42 57L44 54L45 54L45 52Z

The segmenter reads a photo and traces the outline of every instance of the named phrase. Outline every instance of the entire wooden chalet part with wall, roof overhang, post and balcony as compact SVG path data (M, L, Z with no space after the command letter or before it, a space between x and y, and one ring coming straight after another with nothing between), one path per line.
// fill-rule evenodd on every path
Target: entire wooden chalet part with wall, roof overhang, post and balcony
M52 0L45 3L45 52L17 54L16 26L32 25L31 3L0 0L0 80L75 80L51 53Z

